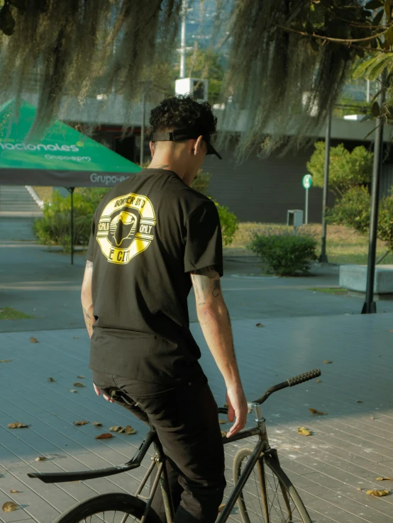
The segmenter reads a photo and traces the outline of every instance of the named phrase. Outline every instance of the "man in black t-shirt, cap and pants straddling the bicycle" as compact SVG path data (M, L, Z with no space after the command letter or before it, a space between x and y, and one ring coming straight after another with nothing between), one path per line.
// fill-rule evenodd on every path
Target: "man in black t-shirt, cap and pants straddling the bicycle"
M189 330L194 287L206 343L226 383L227 436L247 403L221 293L221 226L213 201L191 189L211 145L209 103L170 97L150 116L147 169L104 196L92 221L82 283L94 389L150 422L168 457L175 523L214 522L225 488L217 405ZM220 157L221 158L221 157ZM112 395L115 392L115 395ZM162 521L160 489L153 509Z

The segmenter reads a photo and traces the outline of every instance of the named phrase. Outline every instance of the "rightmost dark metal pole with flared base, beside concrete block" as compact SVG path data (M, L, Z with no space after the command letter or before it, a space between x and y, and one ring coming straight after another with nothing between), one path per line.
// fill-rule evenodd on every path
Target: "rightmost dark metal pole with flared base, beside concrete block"
M386 77L381 79L382 90L378 97L380 107L384 104L385 93L384 84ZM380 200L380 175L382 171L382 150L384 122L380 120L380 125L375 131L374 142L374 163L372 165L372 190L371 190L371 216L370 216L370 237L368 244L367 262L367 286L366 298L362 308L362 314L373 314L377 312L377 305L374 299L374 279L375 279L375 254L377 251L377 229L378 229L378 208Z

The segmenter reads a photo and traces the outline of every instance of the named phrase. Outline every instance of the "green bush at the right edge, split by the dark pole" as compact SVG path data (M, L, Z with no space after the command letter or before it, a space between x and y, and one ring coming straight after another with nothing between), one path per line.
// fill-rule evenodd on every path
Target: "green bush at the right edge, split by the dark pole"
M329 223L346 225L368 235L370 231L371 198L365 187L353 187L347 191L328 213ZM393 249L393 196L380 200L377 236Z

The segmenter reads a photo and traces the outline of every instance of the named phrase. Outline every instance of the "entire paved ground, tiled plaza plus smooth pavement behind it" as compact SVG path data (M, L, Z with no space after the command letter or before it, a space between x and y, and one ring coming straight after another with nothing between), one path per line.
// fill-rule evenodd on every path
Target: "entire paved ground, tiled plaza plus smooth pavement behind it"
M13 232L9 234L0 237L0 308L13 307L34 318L0 322L0 360L12 360L0 363L0 506L7 500L21 506L15 512L0 512L0 522L50 523L59 512L95 493L133 492L143 468L58 486L29 480L28 471L123 463L146 430L92 390L79 302L84 257L75 255L71 266L69 254L50 252L31 241L16 242ZM222 287L248 398L297 373L315 367L323 371L322 383L284 390L268 400L264 412L271 444L279 449L314 522L393 523L393 496L365 494L372 488L393 490L393 481L375 480L393 477L393 302L377 303L380 314L364 316L359 314L359 298L309 290L337 286L335 267L316 267L309 278L261 278L259 273L255 259L225 260ZM196 323L192 295L189 306L202 364L222 404L223 381ZM32 336L38 343L30 341ZM77 378L81 375L86 377ZM74 387L78 381L86 386ZM328 415L315 417L310 407ZM102 422L102 432L131 422L138 433L96 440L101 429L91 423L73 425L84 419ZM29 427L8 429L14 421ZM313 435L297 434L300 426ZM228 489L233 455L241 445L226 446ZM36 462L38 456L48 460ZM240 521L237 509L233 519Z

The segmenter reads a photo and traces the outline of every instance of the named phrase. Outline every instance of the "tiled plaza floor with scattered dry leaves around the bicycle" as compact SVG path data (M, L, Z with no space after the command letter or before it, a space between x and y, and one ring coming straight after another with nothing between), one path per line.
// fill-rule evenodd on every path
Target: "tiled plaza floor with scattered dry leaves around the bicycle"
M393 468L393 314L267 318L233 321L240 372L248 398L294 374L321 367L316 381L283 390L264 407L270 442L297 486L316 523L393 522L393 495L370 497L365 490L393 488L377 477ZM199 325L192 331L201 344L202 365L218 404L223 381L203 342ZM30 337L38 339L31 343ZM77 500L96 493L135 490L145 468L108 479L45 485L28 471L72 471L126 462L146 432L126 410L97 398L87 368L84 330L0 334L0 505L12 500L16 512L0 512L1 522L50 523ZM333 361L323 364L323 360ZM78 378L77 376L85 376ZM52 377L55 382L48 381ZM75 382L84 383L77 388ZM77 390L70 393L69 389ZM358 403L362 402L362 403ZM328 412L315 417L309 408ZM75 420L88 420L75 427ZM10 422L27 429L8 429ZM94 427L93 421L103 424ZM250 424L252 420L250 419ZM111 425L133 425L134 436L116 434L96 440ZM297 434L297 427L313 435ZM223 425L226 428L226 425ZM233 455L242 444L226 446L228 490ZM45 456L47 461L36 462ZM144 467L148 464L148 459ZM359 490L361 489L361 490ZM18 493L10 493L18 490ZM240 521L237 509L233 520Z

